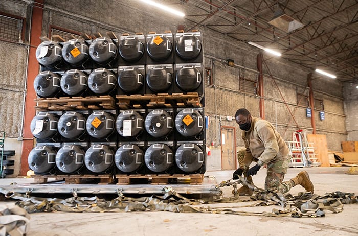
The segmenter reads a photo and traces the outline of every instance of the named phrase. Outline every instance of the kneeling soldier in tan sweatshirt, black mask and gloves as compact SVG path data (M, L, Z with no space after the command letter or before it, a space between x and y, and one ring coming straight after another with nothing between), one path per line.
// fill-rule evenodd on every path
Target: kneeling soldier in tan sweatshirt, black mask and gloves
M242 130L246 150L233 179L238 179L238 175L242 174L256 175L261 166L266 165L265 189L287 193L300 184L307 192L314 193L314 186L306 171L301 171L295 178L283 182L291 156L281 135L270 122L252 117L244 108L236 111L235 119ZM253 161L257 164L249 169Z

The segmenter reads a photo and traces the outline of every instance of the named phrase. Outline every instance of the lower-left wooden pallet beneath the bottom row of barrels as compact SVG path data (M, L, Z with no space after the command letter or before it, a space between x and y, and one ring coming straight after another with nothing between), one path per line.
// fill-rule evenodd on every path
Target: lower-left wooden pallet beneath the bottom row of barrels
M34 183L47 183L48 178L64 180L64 184L93 183L110 184L114 183L113 175L32 175Z

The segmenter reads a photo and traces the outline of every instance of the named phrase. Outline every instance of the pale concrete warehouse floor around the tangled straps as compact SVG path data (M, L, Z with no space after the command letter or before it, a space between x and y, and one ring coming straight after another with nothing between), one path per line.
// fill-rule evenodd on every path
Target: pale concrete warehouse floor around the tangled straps
M315 185L315 193L342 191L358 194L358 175L347 175L349 167L290 168L288 180L306 170ZM233 171L207 172L217 181L228 180ZM263 187L265 170L254 176L254 183ZM31 182L29 179L2 179L10 182ZM223 188L230 196L232 187ZM304 189L296 186L290 193ZM8 201L0 203L9 203ZM248 203L222 203L228 208ZM212 205L212 204L210 204ZM245 207L240 210L271 211L273 207ZM279 208L279 206L275 206ZM198 213L134 212L134 213L34 213L30 214L32 235L358 235L358 204L344 205L341 213L326 212L324 218L273 218Z

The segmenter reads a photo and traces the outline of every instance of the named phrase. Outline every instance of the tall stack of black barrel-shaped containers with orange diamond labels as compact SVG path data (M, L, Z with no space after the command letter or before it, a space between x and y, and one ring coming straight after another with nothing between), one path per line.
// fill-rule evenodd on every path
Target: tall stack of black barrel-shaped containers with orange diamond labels
M35 174L203 174L206 170L201 32L43 41L39 98L172 96L201 105L38 111L28 163Z

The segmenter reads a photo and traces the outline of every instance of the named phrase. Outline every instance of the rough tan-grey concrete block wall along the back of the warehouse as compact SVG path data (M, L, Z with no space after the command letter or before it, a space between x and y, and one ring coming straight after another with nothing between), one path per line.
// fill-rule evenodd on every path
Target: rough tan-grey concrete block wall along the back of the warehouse
M28 4L30 3L31 1L3 0L0 2L0 11L26 17L29 14ZM183 6L186 7L185 4ZM193 9L185 9L185 11L188 14L194 14ZM163 16L158 17L159 15ZM146 34L149 31L164 32L171 30L176 32L179 25L184 25L186 30L192 27L192 25L185 25L184 19L168 16L160 10L143 6L136 1L88 0L83 4L82 1L47 0L44 2L42 35L49 36L50 26L89 35L97 32L105 35L106 32L113 31L117 36L120 36L122 33L143 32L143 34ZM208 167L209 170L219 170L221 169L221 152L218 142L220 125L236 127L236 146L238 148L243 146L240 138L241 132L235 119L227 121L226 116L234 116L236 110L240 107L249 109L254 116L260 116L259 98L239 89L239 77L257 80L256 56L262 51L210 29L200 26L196 28L203 32L205 65L212 69L214 80L213 85L206 85L205 87L205 112L206 115L210 116L207 143L210 144L211 141L216 140L216 147L212 147L212 156L208 158ZM23 91L25 84L27 49L24 45L0 41L1 53L11 53L11 56L14 57L14 47L18 48L16 59L9 60L0 67L0 83L16 90L9 91L9 95L5 95L4 92L2 92L4 95L0 95L2 96L0 97L2 99L0 100L1 109L3 109L1 112L9 114L7 129L8 133L11 133L11 137L19 135L21 120L18 118L19 115L14 117L13 114L18 114L23 107L22 105L14 107L10 105L13 103L9 103L9 101L22 104L22 93L19 91ZM264 54L265 59L269 57L271 56ZM226 64L227 59L233 59L236 66L228 66ZM297 107L297 92L302 93L304 91L307 74L311 72L283 58L272 58L267 60L266 63L287 102L287 106L294 113L299 128L311 133L311 123L310 119L306 118L305 107ZM270 78L269 70L265 65L263 70L265 118L277 127L284 139L291 140L292 132L297 130L298 127L290 118L287 106L283 103L283 99L273 79ZM9 78L7 75L9 73L11 73L13 79ZM14 80L14 78L16 79ZM320 121L318 111L315 112L317 133L327 135L328 149L341 150L341 141L347 139L347 131L349 137L358 135L354 120L358 111L355 111L355 113L353 111L356 110L356 102L350 100L350 98L343 98L343 84L338 80L321 77L315 79L312 83L315 98L323 100L325 105L326 119L324 121ZM304 93L308 95L308 88ZM355 128L353 127L354 124Z

